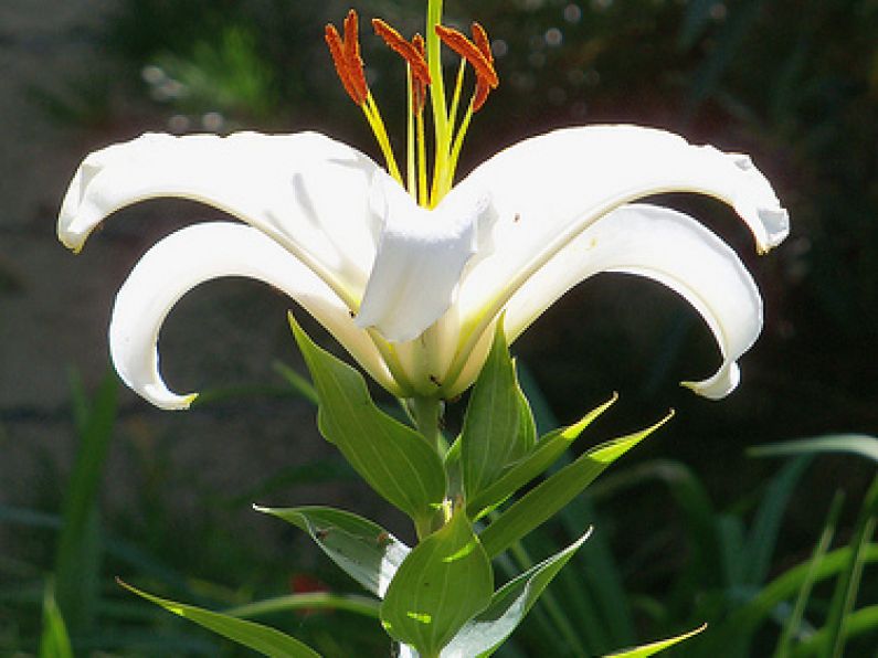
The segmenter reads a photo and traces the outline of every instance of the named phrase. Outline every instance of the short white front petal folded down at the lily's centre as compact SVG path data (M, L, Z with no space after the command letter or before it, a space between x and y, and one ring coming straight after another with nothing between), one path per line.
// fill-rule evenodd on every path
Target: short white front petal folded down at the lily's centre
M488 202L459 197L457 204L430 211L393 181L377 183L372 199L384 227L357 325L404 342L452 305L461 272L476 252L478 219Z

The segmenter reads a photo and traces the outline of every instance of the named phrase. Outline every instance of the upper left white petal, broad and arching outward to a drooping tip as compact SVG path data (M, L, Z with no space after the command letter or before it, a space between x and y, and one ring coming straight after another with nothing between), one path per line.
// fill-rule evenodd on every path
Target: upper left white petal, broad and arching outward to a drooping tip
M120 208L158 197L192 199L271 235L356 306L380 230L369 189L381 174L359 151L314 132L144 135L83 161L57 233L78 251Z

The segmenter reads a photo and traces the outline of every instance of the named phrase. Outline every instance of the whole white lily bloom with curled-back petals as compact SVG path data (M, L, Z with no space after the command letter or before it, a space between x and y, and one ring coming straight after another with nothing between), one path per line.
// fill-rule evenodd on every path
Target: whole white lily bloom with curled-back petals
M362 98L374 126L371 94ZM465 124L469 116L472 105ZM188 290L223 276L288 294L392 394L449 399L475 380L501 314L512 341L585 278L637 274L681 295L717 340L719 370L687 385L711 399L734 389L736 361L762 327L752 278L696 220L636 202L663 192L715 197L766 252L786 236L789 221L749 158L663 130L590 126L521 141L451 188L456 152L443 152L425 199L411 176L402 187L395 164L391 176L314 132L145 135L84 160L61 209L59 237L78 251L105 217L158 197L201 201L246 224L173 233L142 256L118 293L113 360L126 384L165 408L184 408L193 394L176 394L161 379L161 325Z

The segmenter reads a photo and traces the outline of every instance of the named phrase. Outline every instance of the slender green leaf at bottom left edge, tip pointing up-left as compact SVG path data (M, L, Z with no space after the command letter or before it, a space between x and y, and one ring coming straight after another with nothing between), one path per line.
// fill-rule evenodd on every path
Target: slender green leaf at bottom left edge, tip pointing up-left
M194 622L208 630L212 630L240 645L260 651L269 658L320 658L320 655L306 644L288 635L284 635L275 628L263 626L255 622L237 619L222 613L205 611L193 605L160 598L137 590L121 581L117 580L117 582L126 590L160 605L169 613Z

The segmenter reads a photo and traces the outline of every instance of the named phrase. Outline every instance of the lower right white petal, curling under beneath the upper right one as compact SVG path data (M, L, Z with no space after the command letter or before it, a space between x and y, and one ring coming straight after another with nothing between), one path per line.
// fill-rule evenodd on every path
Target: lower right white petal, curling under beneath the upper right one
M688 382L710 399L739 380L737 359L762 330L762 299L738 255L692 217L655 205L625 205L602 217L561 250L509 299L505 327L514 340L561 295L600 272L657 280L701 314L723 363L711 378Z

